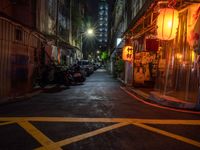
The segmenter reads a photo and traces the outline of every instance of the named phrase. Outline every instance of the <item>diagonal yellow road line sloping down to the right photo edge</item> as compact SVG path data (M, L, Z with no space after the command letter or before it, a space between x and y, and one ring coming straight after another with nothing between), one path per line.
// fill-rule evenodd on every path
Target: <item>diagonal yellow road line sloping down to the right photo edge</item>
M150 127L148 125L144 125L144 124L141 124L141 123L133 123L133 125L144 128L144 129L152 131L152 132L156 132L158 134L162 134L164 136L176 139L178 141L182 141L182 142L200 147L200 142L186 138L186 137L183 137L183 136L180 136L180 135L177 135L177 134L173 134L173 133L170 133L170 132L167 132L167 131L164 131L164 130L160 130L160 129L157 129L157 128L154 128L154 127Z

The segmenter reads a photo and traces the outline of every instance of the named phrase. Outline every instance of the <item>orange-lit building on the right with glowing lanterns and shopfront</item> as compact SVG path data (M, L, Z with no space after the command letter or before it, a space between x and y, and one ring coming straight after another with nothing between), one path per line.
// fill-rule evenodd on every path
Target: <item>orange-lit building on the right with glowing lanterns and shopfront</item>
M122 36L125 42L118 56L122 58L123 49L131 46L132 59L124 61L122 80L133 87L152 90L152 96L161 95L199 107L199 1L126 0L125 8L127 26L125 23ZM171 31L165 33L175 33L168 39L163 36L167 31L163 29L164 23L158 24L163 9L168 9L167 14L175 11L178 18L170 26Z

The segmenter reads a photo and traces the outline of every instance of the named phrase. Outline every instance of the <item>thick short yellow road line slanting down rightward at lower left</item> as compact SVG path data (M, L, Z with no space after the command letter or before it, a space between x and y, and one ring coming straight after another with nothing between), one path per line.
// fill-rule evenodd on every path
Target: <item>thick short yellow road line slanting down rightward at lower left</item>
M31 123L17 122L24 130L26 130L31 136L33 136L42 146L44 146L48 150L62 150L59 146L57 146L51 139L49 139L46 135L44 135L40 130L34 127ZM51 145L51 146L49 146Z

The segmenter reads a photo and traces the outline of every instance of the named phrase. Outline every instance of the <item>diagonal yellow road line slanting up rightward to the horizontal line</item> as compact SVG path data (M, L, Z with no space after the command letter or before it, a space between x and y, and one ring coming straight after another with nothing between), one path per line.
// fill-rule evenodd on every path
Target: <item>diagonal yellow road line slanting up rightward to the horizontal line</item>
M62 147L62 146L65 146L65 145L68 145L68 144L71 144L71 143L74 143L74 142L78 142L78 141L81 141L81 140L84 140L84 139L105 133L105 132L113 130L113 129L117 129L117 128L120 128L120 127L123 127L123 126L127 126L129 124L130 123L127 123L127 122L126 123L124 123L124 122L123 123L117 123L117 124L110 125L110 126L107 126L107 127L101 128L101 129L97 129L95 131L91 131L91 132L87 132L87 133L77 135L77 136L74 136L74 137L71 137L71 138L67 138L65 140L56 142L56 144L59 145L60 147ZM38 148L37 150L43 150L43 147Z

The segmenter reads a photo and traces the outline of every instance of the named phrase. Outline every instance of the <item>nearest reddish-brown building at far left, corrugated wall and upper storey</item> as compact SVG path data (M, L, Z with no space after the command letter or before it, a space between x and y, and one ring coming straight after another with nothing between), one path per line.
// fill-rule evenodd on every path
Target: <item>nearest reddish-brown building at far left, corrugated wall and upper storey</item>
M37 34L35 1L1 1L0 97L15 97L31 89L35 52L43 36Z

